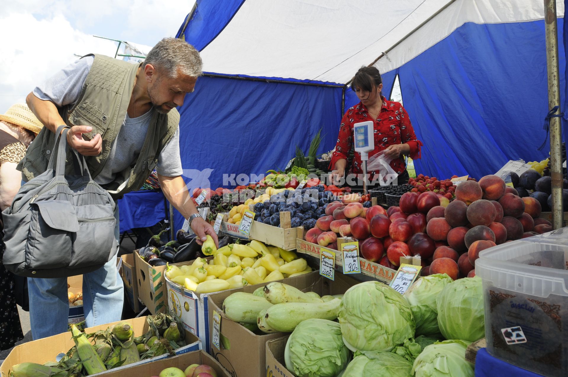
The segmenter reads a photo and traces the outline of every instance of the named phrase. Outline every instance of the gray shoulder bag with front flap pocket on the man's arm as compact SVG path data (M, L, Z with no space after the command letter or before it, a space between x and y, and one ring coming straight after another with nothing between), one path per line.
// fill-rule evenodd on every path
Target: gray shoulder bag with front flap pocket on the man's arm
M70 153L74 174L65 175L69 130L61 133L62 128L69 127L57 128L45 173L20 187L2 212L2 263L16 275L81 275L101 268L116 252L114 200L93 181L85 157L75 149Z

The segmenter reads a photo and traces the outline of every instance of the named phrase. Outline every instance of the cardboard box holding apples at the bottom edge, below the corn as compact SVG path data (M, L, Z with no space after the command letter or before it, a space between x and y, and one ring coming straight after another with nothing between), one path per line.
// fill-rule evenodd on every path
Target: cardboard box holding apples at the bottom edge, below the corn
M217 377L231 377L231 375L229 375L227 371L225 371L214 358L212 358L204 351L194 351L167 359L154 361L152 363L127 367L120 371L112 370L110 372L106 372L105 375L108 377L157 376L165 368L176 367L185 371L185 368L189 367L191 364L206 364L214 368L215 372L217 372Z

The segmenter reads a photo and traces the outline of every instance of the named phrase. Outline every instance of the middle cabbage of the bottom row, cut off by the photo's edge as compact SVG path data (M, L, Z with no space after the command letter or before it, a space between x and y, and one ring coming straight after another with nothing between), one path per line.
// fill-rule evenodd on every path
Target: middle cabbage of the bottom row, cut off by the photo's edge
M365 352L353 358L341 377L411 377L412 363L390 352Z

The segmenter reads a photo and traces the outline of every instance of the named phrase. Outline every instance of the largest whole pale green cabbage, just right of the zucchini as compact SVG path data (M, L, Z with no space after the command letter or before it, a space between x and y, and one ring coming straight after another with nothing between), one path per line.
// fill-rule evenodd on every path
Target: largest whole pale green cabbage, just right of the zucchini
M349 288L338 317L343 342L352 351L390 351L414 337L410 305L399 292L379 282Z

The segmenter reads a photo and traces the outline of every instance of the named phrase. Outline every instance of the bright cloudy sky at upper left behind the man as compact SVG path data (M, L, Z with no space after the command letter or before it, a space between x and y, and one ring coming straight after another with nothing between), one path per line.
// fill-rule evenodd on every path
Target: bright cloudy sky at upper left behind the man
M114 56L105 36L152 46L176 36L195 0L12 0L0 14L0 114L76 55ZM167 6L165 5L167 4ZM122 49L122 48L121 48Z

